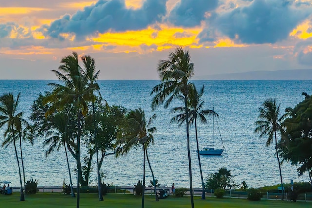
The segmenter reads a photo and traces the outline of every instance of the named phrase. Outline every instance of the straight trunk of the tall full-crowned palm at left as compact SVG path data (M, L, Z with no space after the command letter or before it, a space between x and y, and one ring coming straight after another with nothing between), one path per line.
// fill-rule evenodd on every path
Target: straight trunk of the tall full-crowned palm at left
M79 103L79 100L78 100ZM78 124L78 135L77 135L77 202L76 208L80 206L80 175L81 175L81 161L80 161L80 136L81 136L81 129L80 129L80 105L78 104L78 113L77 113L77 124Z

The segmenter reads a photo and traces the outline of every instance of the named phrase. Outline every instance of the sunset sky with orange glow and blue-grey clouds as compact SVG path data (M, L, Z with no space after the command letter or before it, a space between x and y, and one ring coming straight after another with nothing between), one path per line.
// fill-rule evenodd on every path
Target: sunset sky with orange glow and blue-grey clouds
M56 79L90 55L99 79L158 79L183 47L195 79L312 68L312 0L0 0L0 79Z

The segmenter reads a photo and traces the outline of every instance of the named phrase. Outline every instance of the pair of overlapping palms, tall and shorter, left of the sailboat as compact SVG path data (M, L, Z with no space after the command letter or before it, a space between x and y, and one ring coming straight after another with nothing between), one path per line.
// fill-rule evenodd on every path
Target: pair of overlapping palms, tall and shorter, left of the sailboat
M177 48L175 52L169 53L168 59L159 62L157 70L161 78L161 83L152 89L151 95L154 95L151 105L152 109L154 110L162 104L164 104L164 108L168 108L175 99L184 103L182 107L172 108L172 113L180 114L174 116L171 122L177 122L179 126L183 123L186 124L191 206L194 208L189 124L195 123L197 155L203 189L202 199L205 199L205 183L199 155L197 117L200 118L201 122L207 123L205 116L213 115L218 117L218 114L213 110L202 110L204 101L201 100L201 96L204 93L204 86L198 91L195 85L190 82L190 78L194 75L194 64L191 62L189 51L184 51L182 47Z

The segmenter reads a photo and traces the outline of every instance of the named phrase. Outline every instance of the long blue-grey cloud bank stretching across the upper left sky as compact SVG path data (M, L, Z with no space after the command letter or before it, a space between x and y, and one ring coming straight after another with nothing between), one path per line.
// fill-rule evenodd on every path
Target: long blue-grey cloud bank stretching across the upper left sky
M161 20L167 0L146 0L139 9L126 8L124 0L99 0L72 16L64 15L41 28L44 34L62 39L60 33L74 33L76 38L109 30L139 30Z

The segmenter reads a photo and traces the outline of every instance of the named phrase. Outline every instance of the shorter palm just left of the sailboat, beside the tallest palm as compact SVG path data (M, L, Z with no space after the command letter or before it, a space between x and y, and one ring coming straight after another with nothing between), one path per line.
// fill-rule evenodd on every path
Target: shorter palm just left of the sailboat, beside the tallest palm
M205 183L204 183L204 179L203 179L203 173L201 170L201 162L200 162L200 154L199 154L197 118L199 117L200 121L203 124L206 124L207 123L207 119L206 119L207 115L213 115L213 116L219 117L219 115L217 113L215 113L214 110L209 110L209 109L202 110L205 101L201 100L201 97L204 94L204 91L205 91L204 85L202 86L202 88L199 91L197 91L195 85L193 85L191 90L190 90L189 102L188 102L189 123L190 124L192 124L193 122L195 123L197 156L198 156L198 163L199 163L199 170L200 170L201 185L203 188L201 199L206 199L206 196L205 196ZM181 96L180 99L184 99L184 97ZM171 122L177 122L177 123L179 123L179 126L181 126L182 123L186 121L185 107L173 108L171 110L171 112L172 113L176 113L176 112L182 113L182 114L174 116L171 119Z

